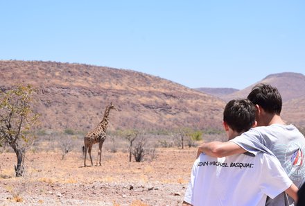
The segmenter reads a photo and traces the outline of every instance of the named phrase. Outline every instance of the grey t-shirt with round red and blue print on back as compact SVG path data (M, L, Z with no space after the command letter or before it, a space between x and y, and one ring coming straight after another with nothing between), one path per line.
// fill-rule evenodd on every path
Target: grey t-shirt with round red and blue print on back
M273 153L297 187L305 182L305 138L295 126L272 124L256 127L230 141L250 153ZM293 206L295 203L282 193L274 199L268 198L266 205Z

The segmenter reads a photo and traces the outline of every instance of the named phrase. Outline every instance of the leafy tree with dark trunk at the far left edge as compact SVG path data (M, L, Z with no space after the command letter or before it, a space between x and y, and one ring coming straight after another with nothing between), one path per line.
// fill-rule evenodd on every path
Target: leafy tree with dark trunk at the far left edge
M1 142L6 143L14 150L17 156L16 177L24 173L26 148L35 139L31 130L40 117L31 106L33 92L35 89L30 85L0 91L0 146Z

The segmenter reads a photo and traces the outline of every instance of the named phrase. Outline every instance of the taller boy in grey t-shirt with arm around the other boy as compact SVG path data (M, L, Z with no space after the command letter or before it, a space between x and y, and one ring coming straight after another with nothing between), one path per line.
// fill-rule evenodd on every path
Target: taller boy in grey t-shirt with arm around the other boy
M225 157L246 151L274 153L290 180L297 187L305 182L305 138L293 125L286 125L280 117L281 95L271 85L259 84L252 88L247 98L256 106L256 128L227 142L212 141L202 144L199 153ZM266 205L293 206L292 198L285 193L275 199L268 198Z

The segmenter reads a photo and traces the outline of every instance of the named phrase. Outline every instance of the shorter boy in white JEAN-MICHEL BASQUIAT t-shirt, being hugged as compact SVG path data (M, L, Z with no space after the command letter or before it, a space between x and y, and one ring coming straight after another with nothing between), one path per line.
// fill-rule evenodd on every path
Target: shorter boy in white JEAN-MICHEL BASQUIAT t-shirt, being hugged
M255 111L247 99L227 103L223 125L229 140L256 125ZM217 158L202 153L193 164L183 206L263 206L267 196L275 198L283 191L297 200L297 187L273 155L247 153Z

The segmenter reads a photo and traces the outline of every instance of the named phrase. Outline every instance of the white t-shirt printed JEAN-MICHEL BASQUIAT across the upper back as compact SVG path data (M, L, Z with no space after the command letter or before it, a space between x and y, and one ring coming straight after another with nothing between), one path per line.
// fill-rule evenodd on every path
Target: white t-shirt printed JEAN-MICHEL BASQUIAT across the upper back
M184 201L194 206L264 206L290 187L276 157L257 153L216 158L201 154L193 164Z

